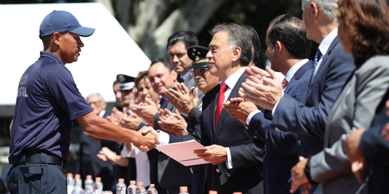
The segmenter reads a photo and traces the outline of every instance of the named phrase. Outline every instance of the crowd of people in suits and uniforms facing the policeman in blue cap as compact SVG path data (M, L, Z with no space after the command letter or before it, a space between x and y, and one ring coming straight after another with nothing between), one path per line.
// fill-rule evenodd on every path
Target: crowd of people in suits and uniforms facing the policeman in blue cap
M112 112L100 94L86 98L93 113L159 144L196 140L208 164L183 166L152 147L82 132L82 174L136 178L160 194L180 186L193 194L386 193L388 2L302 0L301 8L302 20L284 14L260 32L271 68L255 66L254 28L218 24L209 45L177 31L169 60L153 60L136 78L119 74ZM311 41L319 47L308 60Z

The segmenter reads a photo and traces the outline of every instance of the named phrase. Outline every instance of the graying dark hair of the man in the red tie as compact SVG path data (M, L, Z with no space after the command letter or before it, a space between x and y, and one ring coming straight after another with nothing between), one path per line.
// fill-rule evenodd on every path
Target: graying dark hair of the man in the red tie
M228 33L229 52L232 52L232 49L235 47L240 47L242 53L240 54L239 61L243 65L248 65L252 59L251 32L242 25L229 23L217 24L210 30L210 34L213 36L219 31Z

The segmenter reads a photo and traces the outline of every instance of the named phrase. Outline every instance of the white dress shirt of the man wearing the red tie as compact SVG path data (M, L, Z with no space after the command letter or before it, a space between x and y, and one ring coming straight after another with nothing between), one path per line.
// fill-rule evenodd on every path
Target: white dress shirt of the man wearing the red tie
M245 67L246 66L243 66L238 71L233 73L230 77L228 77L226 79L226 81L224 81L224 82L226 82L226 84L228 86L226 92L224 92L224 102L226 102L229 99L232 88L235 87L235 84L239 80L240 76L242 76L242 74L244 73ZM223 81L221 81L220 84L221 83L223 83ZM215 107L215 110L216 110L216 107ZM157 130L157 132L159 132L159 138L158 138L159 144L168 144L169 139L170 139L169 135L161 130ZM227 151L226 165L227 165L228 169L231 169L231 168L233 168L233 164L232 164L232 159L231 159L230 148L226 147L226 151Z

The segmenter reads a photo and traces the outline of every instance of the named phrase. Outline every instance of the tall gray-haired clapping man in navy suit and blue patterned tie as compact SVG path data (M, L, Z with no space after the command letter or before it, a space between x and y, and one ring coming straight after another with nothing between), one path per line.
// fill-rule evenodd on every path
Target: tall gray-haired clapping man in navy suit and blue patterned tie
M334 2L303 1L303 21L307 38L319 43L315 55L315 71L312 74L311 86L308 90L307 101L300 103L289 95L282 95L279 81L261 69L251 67L263 77L268 85L255 83L255 80L242 84L242 95L254 104L272 110L272 126L298 133L298 145L301 155L308 157L323 149L324 130L327 116L336 97L342 90L347 78L354 70L351 55L346 54L337 38L338 21L336 19L337 0ZM258 70L258 71L257 71ZM307 136L314 137L306 138ZM292 177L293 192L301 185L315 184L310 176L310 165L307 158L301 158L295 175ZM306 176L305 173L309 174ZM316 178L316 177L315 177ZM293 181L295 180L295 181ZM321 187L321 185L319 185ZM313 187L317 193L321 189ZM312 191L313 191L312 190Z

